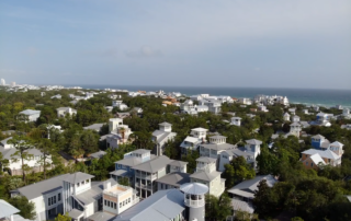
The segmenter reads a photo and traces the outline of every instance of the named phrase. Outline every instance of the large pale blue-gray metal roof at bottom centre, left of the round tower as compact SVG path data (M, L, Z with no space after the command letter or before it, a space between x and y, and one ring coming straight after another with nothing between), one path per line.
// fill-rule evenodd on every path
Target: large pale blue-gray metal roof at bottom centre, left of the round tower
M171 220L184 209L184 195L180 190L159 190L118 214L114 221Z

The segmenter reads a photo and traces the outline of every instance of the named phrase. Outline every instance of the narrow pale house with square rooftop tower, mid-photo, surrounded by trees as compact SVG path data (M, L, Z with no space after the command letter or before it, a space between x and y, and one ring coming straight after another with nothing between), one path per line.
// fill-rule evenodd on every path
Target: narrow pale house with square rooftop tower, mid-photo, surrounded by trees
M152 141L155 143L156 155L162 155L165 152L165 144L169 141L173 141L177 136L172 132L172 125L169 123L159 124L160 128L152 132Z

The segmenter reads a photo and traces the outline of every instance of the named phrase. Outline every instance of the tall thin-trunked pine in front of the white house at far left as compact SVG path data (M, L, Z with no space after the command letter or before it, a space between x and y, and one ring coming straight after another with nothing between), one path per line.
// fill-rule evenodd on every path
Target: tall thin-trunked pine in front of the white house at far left
M15 156L19 156L21 159L22 181L24 182L25 181L24 161L29 161L33 156L27 152L32 148L32 141L30 140L29 137L25 137L23 135L20 135L20 136L14 135L12 139L8 140L8 143L13 144L13 147L16 149L16 151L11 155L12 161L13 162L19 161L19 159Z

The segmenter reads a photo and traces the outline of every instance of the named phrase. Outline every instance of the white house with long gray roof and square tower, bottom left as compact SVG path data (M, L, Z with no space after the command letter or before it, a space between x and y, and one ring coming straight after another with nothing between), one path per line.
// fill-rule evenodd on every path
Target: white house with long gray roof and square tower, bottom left
M72 220L87 220L102 210L102 193L114 179L92 183L93 176L77 172L31 184L11 191L11 197L25 196L34 203L37 221L53 220L68 212Z

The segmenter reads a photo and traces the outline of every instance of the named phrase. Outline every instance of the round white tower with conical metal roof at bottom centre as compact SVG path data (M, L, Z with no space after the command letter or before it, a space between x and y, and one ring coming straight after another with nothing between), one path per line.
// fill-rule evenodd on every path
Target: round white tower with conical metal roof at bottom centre
M205 194L208 187L204 184L188 183L180 186L180 190L184 193L184 203L189 211L189 221L205 220Z

